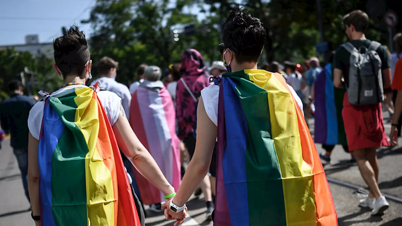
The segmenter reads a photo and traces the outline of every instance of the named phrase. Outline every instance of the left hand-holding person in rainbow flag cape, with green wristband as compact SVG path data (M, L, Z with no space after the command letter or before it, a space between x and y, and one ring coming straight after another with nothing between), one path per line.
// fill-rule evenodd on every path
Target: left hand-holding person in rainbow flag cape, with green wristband
M53 41L66 84L29 113L28 187L36 226L139 226L119 147L167 201L176 193L139 142L113 92L85 86L92 60L73 25ZM186 210L184 210L186 211Z

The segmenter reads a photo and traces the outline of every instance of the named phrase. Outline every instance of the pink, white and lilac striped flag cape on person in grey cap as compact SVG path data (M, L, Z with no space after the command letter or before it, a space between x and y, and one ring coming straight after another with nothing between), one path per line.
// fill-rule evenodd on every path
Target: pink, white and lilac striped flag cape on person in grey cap
M180 185L180 140L172 97L162 82L144 81L132 95L130 125L139 141L155 159L163 175L177 191ZM164 194L133 168L141 201L160 203Z

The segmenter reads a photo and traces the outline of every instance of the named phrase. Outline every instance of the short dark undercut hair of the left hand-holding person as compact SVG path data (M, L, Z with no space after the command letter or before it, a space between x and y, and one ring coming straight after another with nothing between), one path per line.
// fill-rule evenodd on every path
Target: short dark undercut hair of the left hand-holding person
M54 60L63 75L63 78L70 74L78 74L83 78L85 64L90 60L91 55L88 49L84 32L76 25L68 29L66 35L57 37L53 41Z

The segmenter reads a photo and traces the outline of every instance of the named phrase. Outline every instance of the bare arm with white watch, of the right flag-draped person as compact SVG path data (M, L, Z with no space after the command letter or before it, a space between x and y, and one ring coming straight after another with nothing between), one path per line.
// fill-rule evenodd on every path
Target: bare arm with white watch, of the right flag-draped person
M216 136L217 127L209 119L201 97L197 108L197 142L195 144L194 156L187 167L176 196L172 199L174 204L183 206L195 189L197 189L205 175L207 175Z

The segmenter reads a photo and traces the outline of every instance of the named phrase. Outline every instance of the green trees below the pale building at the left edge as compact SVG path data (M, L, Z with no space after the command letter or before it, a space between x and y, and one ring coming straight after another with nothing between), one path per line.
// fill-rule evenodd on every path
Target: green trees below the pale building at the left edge
M14 49L0 50L0 101L8 97L7 84L13 79L21 80L21 72L25 71L25 67L35 75L32 80L35 83L31 87L25 88L26 95L37 95L39 90L53 92L57 90L61 84L61 78L53 69L53 59L49 59L45 54L34 58L29 52L17 52ZM25 82L28 84L28 76L24 74ZM28 93L31 90L31 93Z

